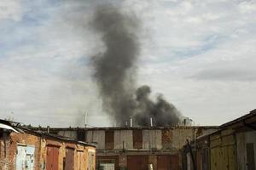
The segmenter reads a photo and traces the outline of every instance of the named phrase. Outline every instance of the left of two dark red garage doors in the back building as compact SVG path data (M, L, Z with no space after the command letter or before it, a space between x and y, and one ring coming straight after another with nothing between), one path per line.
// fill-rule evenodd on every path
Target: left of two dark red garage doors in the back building
M148 170L148 156L127 156L127 170Z

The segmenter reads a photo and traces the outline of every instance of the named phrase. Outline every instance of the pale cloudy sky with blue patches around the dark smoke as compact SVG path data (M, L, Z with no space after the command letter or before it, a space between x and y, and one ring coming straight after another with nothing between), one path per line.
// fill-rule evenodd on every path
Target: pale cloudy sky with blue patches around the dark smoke
M100 38L92 0L0 1L0 118L34 126L113 126L91 78ZM137 86L195 125L256 109L256 1L108 0L142 21ZM79 23L82 22L82 23Z

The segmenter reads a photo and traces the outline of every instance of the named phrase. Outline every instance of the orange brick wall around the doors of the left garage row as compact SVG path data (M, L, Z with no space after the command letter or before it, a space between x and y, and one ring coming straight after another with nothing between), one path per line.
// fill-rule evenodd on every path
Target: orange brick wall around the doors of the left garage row
M84 162L82 162L83 168L80 168L80 170L93 170L96 167L96 148L93 146L69 143L62 141L61 139L41 138L30 133L10 133L6 136L5 142L3 138L0 138L0 170L15 170L16 165L22 165L22 163L20 164L22 161L19 161L18 164L16 163L17 151L22 151L23 147L26 148L26 146L29 150L31 150L31 148L35 149L33 152L34 156L29 157L32 158L32 162L34 164L33 169L36 170L46 169L48 156L47 148L50 146L58 148L58 157L56 162L58 164L58 170L63 170L63 160L67 156L67 148L72 148L74 151L74 170L79 167L79 156L82 156L82 160L84 160ZM24 156L24 159L25 158L26 156Z

